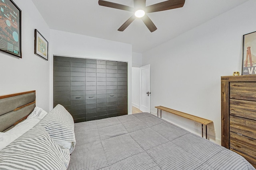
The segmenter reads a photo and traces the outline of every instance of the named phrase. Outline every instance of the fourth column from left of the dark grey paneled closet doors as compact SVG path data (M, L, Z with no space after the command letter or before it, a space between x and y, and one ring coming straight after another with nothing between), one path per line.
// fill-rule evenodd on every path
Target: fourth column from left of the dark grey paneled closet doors
M106 118L106 61L97 60L97 119Z

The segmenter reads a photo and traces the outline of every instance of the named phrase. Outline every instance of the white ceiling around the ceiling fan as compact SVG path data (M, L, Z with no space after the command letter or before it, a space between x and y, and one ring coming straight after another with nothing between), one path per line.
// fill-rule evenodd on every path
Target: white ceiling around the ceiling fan
M133 7L133 0L108 0ZM146 0L146 5L165 0ZM132 12L98 5L98 0L32 0L50 29L132 44L143 53L248 0L186 0L183 8L148 14L158 28L151 33L137 18L123 32L117 29Z

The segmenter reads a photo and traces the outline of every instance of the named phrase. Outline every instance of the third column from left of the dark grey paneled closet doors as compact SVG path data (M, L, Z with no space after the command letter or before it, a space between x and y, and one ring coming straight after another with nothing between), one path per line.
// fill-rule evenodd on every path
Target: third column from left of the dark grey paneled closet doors
M86 59L86 121L97 118L97 95L96 95L96 60Z

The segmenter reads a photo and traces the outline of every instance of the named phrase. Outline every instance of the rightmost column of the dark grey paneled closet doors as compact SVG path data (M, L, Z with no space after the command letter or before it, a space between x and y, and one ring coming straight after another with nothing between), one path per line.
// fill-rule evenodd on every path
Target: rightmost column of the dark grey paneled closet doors
M127 63L117 62L117 112L118 116L128 114Z

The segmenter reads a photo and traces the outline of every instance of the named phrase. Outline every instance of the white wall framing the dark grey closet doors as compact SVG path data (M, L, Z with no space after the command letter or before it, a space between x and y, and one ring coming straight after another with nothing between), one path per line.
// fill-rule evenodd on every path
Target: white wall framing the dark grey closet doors
M132 45L75 33L50 30L50 104L53 107L52 56L70 56L128 62L128 113L132 113Z

